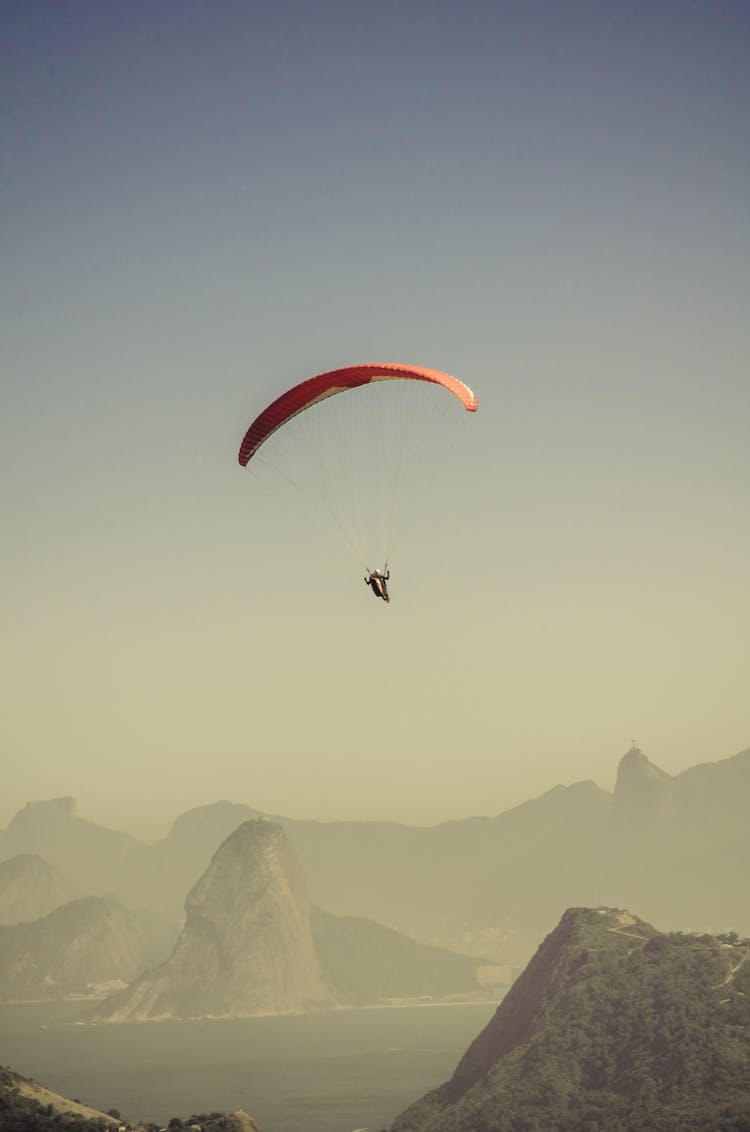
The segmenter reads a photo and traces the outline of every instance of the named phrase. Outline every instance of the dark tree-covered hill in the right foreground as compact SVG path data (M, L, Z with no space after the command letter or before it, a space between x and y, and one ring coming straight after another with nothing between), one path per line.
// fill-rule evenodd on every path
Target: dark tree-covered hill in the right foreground
M570 909L391 1132L748 1132L750 941Z

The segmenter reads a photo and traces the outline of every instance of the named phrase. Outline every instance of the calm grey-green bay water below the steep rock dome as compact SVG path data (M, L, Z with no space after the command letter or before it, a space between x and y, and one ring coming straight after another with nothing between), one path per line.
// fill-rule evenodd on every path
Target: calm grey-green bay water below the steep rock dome
M494 1009L87 1026L83 1003L0 1005L0 1064L129 1120L244 1108L262 1132L379 1132L450 1075Z

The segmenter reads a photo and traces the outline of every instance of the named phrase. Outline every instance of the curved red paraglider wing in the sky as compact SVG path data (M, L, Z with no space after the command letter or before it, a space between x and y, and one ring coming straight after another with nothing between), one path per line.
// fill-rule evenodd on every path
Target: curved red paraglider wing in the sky
M442 385L464 405L469 413L476 412L477 400L463 381L451 377L449 374L441 374L437 369L423 369L420 366L394 366L389 363L372 366L346 366L343 369L333 369L327 374L318 374L307 381L301 381L293 388L282 393L281 397L273 401L267 409L256 417L255 421L244 435L240 446L239 460L242 466L255 456L258 448L268 439L271 434L279 429L298 413L304 412L310 405L314 405L325 397L333 397L336 393L344 393L346 389L355 389L360 385L368 385L370 381L431 381L433 385Z

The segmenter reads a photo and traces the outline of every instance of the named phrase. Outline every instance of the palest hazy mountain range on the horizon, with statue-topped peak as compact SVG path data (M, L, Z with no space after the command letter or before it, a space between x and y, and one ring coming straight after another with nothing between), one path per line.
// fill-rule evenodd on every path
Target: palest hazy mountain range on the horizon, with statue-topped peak
M750 932L748 812L750 749L671 777L633 747L614 794L558 786L494 817L424 829L265 816L286 832L327 912L518 966L566 907L638 907L667 928ZM36 854L84 892L171 919L175 938L218 844L258 816L236 803L200 806L145 844L77 817L72 799L32 803L0 832L0 860Z

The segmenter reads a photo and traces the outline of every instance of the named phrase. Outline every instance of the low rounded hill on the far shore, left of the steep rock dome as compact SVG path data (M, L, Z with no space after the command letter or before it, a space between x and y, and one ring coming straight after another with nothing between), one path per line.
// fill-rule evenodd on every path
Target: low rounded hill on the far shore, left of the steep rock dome
M101 993L143 969L146 940L117 900L84 897L32 924L0 927L0 1000Z

